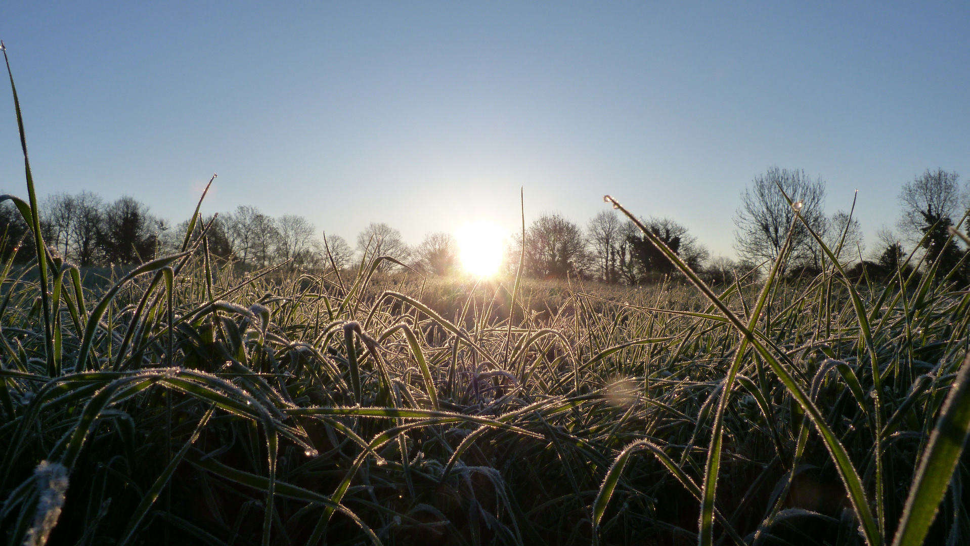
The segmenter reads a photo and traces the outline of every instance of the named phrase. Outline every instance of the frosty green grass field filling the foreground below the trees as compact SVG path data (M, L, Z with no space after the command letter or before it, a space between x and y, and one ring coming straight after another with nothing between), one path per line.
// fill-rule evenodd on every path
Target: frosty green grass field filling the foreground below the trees
M712 289L671 254L624 289L182 250L97 293L4 264L7 544L970 540L970 294L932 265Z

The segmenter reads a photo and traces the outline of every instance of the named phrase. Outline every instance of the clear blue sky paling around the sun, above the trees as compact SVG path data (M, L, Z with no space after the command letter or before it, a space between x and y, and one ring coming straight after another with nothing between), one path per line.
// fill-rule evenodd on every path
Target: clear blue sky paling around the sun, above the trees
M610 193L733 254L767 166L872 234L927 168L970 177L966 3L5 2L39 193L173 223L255 205L353 241L585 224ZM25 194L0 85L0 188Z

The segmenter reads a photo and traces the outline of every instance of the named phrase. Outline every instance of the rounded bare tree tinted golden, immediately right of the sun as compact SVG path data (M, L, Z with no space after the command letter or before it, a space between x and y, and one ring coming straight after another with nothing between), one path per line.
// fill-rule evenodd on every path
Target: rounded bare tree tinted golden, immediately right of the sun
M520 238L521 239L521 238ZM521 248L522 241L518 241ZM526 273L561 278L585 270L586 248L579 226L559 214L539 216L526 231Z

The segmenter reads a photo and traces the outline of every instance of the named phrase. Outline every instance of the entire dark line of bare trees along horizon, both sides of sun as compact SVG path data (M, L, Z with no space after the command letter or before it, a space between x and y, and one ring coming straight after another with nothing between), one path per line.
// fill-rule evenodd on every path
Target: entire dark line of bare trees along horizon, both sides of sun
M887 281L920 268L936 267L939 278L970 284L970 253L951 230L965 230L970 209L970 188L961 187L956 173L927 170L903 184L899 194L902 215L896 223L901 235L883 227L876 248L864 254L859 222L851 211L824 213L825 183L801 170L770 167L753 178L741 193L734 216L738 259L711 256L687 227L667 217L641 218L641 223L712 283L733 282L738 275L763 269L785 252L784 274L815 275L830 257L825 246L854 279ZM178 252L188 222L171 229L143 203L121 197L111 203L82 191L49 196L42 202L41 226L45 241L57 253L82 267L139 264L157 255ZM293 267L356 267L378 256L389 256L378 269L390 271L404 264L427 274L447 275L460 269L459 249L448 233L429 234L417 246L404 242L401 232L374 222L357 236L351 247L339 236L317 238L314 226L303 216L278 218L255 207L201 218L192 237L208 237L210 256L243 269L287 263ZM0 235L5 235L3 257L20 248L18 261L29 260L33 238L19 212L0 206ZM514 272L519 258L524 272L536 278L566 276L611 284L655 282L679 274L633 222L613 209L598 212L585 226L561 214L540 215L525 234L512 237L506 269ZM786 246L788 245L788 246ZM910 252L915 257L905 263ZM520 254L521 253L521 254ZM397 263L396 263L397 262Z

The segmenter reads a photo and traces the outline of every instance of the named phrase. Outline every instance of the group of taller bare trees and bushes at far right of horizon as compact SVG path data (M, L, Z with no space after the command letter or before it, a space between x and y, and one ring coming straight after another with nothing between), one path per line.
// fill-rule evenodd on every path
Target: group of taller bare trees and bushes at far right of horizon
M818 235L855 280L885 282L916 268L935 267L941 273L935 278L970 284L970 254L951 234L952 229L966 232L970 210L970 187L961 188L956 173L927 169L904 183L898 196L902 214L896 222L901 235L883 226L877 232L878 245L868 255L858 220L843 210L826 217L824 198L824 181L803 171L772 167L755 177L741 194L734 218L738 254L749 263L771 262L788 241L785 272L815 275L830 264ZM796 214L801 216L797 221Z

